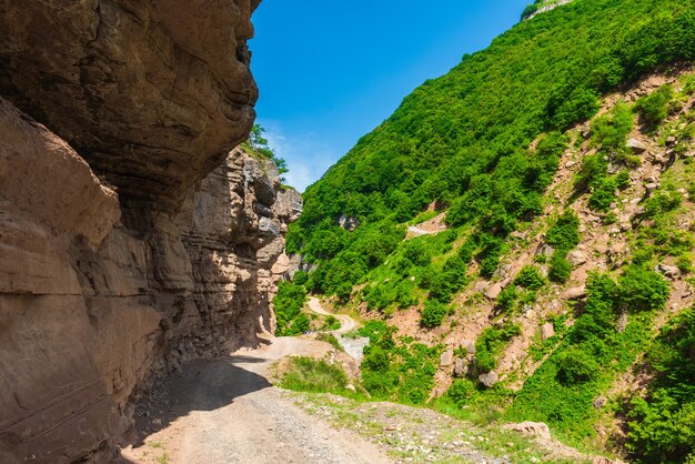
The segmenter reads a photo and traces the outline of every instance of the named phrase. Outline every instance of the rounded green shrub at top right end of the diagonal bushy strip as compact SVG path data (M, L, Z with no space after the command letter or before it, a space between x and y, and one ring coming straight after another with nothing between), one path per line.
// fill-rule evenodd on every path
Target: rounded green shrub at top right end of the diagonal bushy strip
M661 310L668 300L668 283L648 269L631 265L618 279L620 304L631 311Z

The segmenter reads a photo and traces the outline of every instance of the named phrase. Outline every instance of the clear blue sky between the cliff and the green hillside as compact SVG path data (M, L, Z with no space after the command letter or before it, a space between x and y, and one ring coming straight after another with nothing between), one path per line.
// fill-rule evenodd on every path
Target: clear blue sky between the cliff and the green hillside
M484 49L532 0L264 0L258 122L303 191L426 79Z

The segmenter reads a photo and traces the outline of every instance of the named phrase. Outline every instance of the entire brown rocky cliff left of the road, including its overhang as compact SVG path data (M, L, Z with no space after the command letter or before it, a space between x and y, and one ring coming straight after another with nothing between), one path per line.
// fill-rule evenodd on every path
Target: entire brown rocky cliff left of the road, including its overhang
M301 198L230 153L258 1L0 4L0 462L105 462L157 379L273 327Z

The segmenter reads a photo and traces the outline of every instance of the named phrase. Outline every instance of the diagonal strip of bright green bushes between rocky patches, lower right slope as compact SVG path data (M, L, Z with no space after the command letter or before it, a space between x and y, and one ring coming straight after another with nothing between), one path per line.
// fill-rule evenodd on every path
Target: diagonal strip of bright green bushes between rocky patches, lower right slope
M644 347L655 311L664 307L668 285L657 273L631 266L614 280L595 274L582 315L560 346L514 399L511 418L551 423L566 438L593 436L593 402L615 373L623 372ZM629 323L616 330L621 313Z

